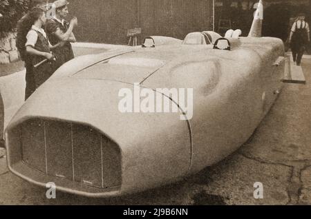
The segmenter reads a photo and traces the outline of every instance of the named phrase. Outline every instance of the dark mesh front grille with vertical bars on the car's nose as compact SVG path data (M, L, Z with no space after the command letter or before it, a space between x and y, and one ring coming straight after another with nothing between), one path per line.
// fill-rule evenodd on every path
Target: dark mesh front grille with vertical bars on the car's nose
M121 185L120 148L97 129L39 118L20 129L21 157L32 169L89 187Z

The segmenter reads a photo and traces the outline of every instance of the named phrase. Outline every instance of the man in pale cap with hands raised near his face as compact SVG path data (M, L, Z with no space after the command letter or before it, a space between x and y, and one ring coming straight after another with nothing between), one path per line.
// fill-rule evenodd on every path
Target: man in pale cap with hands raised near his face
M61 42L62 45L55 48L53 54L56 56L55 70L74 58L73 48L70 43L76 41L73 28L77 26L77 18L71 19L70 23L65 21L68 14L68 1L57 0L53 3L55 12L53 17L46 23L46 34L52 45Z

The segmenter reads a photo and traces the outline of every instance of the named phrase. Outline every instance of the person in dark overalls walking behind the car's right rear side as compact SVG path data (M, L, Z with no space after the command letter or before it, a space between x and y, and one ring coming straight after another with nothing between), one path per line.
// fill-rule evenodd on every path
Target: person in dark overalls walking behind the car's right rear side
M305 21L305 14L300 13L290 32L290 47L292 56L297 65L301 65L301 59L305 52L305 46L310 43L310 28Z

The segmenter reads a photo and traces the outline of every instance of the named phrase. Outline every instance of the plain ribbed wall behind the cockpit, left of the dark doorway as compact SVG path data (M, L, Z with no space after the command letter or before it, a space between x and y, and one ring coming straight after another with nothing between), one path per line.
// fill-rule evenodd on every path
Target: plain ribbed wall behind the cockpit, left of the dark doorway
M189 32L211 30L211 0L71 0L77 17L78 41L126 44L127 30L142 28L144 36L183 39Z

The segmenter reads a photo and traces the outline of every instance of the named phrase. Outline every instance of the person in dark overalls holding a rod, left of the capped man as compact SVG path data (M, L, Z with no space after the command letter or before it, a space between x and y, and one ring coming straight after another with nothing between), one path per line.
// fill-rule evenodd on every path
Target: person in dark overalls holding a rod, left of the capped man
M26 63L26 95L29 96L53 74L53 59L46 32L42 26L46 23L44 10L35 8L28 12L17 25L17 48L21 59ZM42 63L42 61L46 60ZM40 64L41 63L41 64Z

